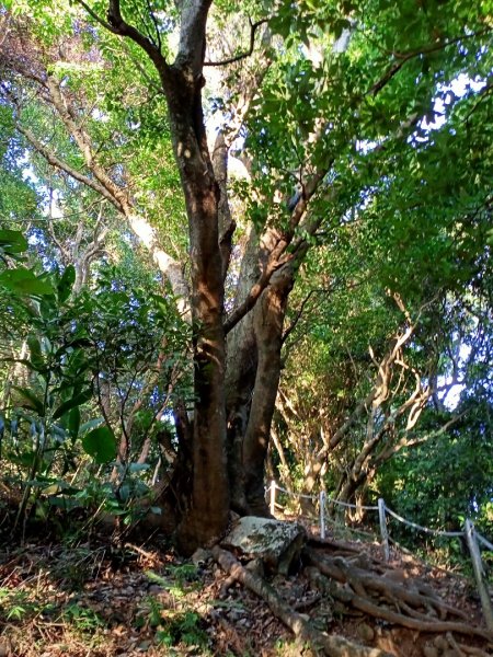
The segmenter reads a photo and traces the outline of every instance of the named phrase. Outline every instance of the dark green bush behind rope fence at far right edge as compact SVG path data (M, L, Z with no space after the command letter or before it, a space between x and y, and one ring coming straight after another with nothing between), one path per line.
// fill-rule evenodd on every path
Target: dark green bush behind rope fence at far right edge
M461 531L466 518L485 537L491 537L492 431L491 402L462 395L457 411L461 419L449 431L420 448L399 456L385 466L376 482L379 495L391 508L419 525L445 531ZM427 424L440 418L429 414ZM454 486L450 486L450 482ZM420 532L395 528L395 537L419 548ZM457 544L427 539L442 549L457 551ZM461 557L459 551L456 557Z

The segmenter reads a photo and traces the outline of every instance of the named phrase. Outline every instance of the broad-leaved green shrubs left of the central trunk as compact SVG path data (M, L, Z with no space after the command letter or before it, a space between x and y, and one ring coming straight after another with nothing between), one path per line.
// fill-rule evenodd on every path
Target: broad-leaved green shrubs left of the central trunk
M0 237L9 256L26 247L20 233L2 231ZM31 278L22 278L24 285L19 286L19 272L24 270ZM96 465L106 464L110 473L107 464L116 454L115 431L122 431L122 424L113 424L113 416L95 415L98 406L100 413L102 410L99 382L105 378L117 387L125 429L126 404L142 393L142 377L152 370L168 332L170 356L161 362L163 377L145 391L149 396L140 405L140 418L135 424L140 436L148 435L156 425L158 391L161 385L168 389L170 372L180 366L176 350L183 350L182 327L162 297L152 297L149 304L141 290L127 293L123 287L119 292L105 289L106 285L115 286L115 272L111 283L101 278L96 293L88 290L79 297L71 296L72 266L62 275L45 274L42 278L21 266L5 273L10 278L2 277L0 283L11 293L11 311L24 313L28 326L23 336L26 355L4 354L3 360L10 364L18 382L7 389L0 413L2 476L20 489L18 522L28 512L46 519L57 508L80 505L121 514L133 496L147 492L139 477L147 466L128 463L118 487L96 476ZM142 343L140 332L146 326L148 339ZM136 441L135 450L142 439Z

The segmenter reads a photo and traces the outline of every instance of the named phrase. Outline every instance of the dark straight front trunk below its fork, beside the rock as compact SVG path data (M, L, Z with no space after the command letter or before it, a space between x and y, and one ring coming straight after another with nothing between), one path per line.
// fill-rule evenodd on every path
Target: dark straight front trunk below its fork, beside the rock
M220 191L207 148L202 76L195 79L186 67L172 67L163 85L185 193L192 264L193 491L190 509L179 531L181 548L190 552L220 537L229 514L223 276L218 227Z

